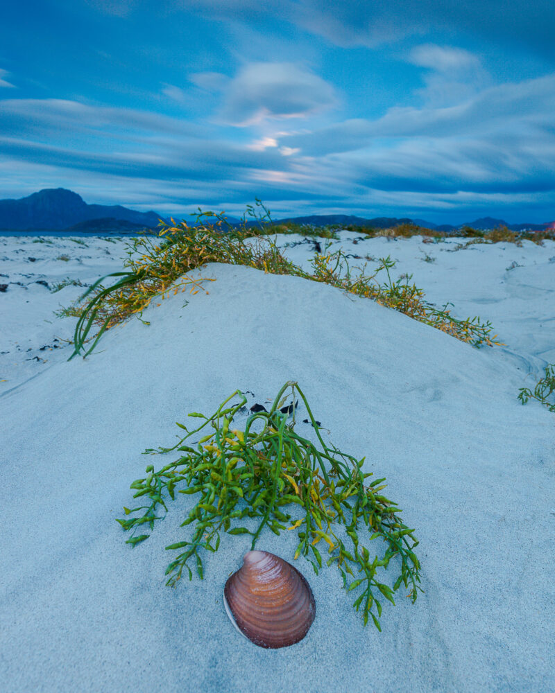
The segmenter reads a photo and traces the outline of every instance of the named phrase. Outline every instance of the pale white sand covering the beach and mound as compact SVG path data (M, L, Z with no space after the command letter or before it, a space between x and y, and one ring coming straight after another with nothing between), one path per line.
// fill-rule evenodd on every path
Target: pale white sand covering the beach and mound
M465 241L341 237L334 249L390 254L393 277L413 272L438 306L489 319L506 347L475 349L331 286L214 263L192 273L216 278L209 295L149 308L151 326L114 328L87 360L67 362L65 346L26 362L25 349L71 337L74 319L44 319L83 289L0 294L2 692L555 691L555 415L517 399L555 362L555 243L449 252ZM39 272L90 283L121 267L121 244L27 240L0 239L0 283ZM69 245L70 261L53 259ZM297 263L312 252L287 249ZM522 267L506 270L513 261ZM316 620L272 651L241 638L222 603L248 538L223 537L205 579L171 590L164 546L186 536L182 500L135 549L114 518L147 464L176 459L141 454L171 443L175 421L212 413L237 388L264 403L286 380L336 446L387 477L420 539L425 594L413 605L400 591L378 633L334 568L316 576L299 559ZM266 532L258 548L291 560L292 535Z

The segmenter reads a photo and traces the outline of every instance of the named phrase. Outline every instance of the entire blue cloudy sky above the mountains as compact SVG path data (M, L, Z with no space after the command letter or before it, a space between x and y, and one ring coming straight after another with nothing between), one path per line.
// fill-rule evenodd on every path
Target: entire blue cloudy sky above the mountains
M553 0L21 0L0 198L555 219Z

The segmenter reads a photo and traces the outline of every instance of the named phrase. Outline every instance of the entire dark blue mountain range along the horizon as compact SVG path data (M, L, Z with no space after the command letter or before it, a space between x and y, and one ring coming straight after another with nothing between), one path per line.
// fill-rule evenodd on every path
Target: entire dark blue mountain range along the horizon
M177 215L177 218L180 218ZM0 200L0 230L4 231L76 231L79 233L94 231L117 231L121 234L131 234L142 229L156 229L160 220L160 214L154 211L138 212L121 205L87 204L77 193L65 188L49 188L41 190L26 198L19 200ZM228 217L232 226L239 226L239 219ZM545 231L554 229L555 222L545 224L507 224L502 219L484 217L467 222L459 226L449 224L433 224L423 219L409 219L397 217L364 218L347 214L313 214L274 220L275 223L295 222L296 224L309 224L325 226L341 224L344 226L361 226L377 229L386 229L399 224L416 224L427 229L437 231L455 231L469 226L473 229L495 229L506 226L511 231ZM257 225L258 222L247 222L248 227Z

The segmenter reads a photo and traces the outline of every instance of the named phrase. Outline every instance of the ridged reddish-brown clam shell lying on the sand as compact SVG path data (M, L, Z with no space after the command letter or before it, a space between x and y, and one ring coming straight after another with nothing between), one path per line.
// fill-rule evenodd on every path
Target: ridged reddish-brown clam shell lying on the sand
M316 603L305 578L279 556L249 551L225 583L225 611L234 626L260 647L287 647L308 632Z

